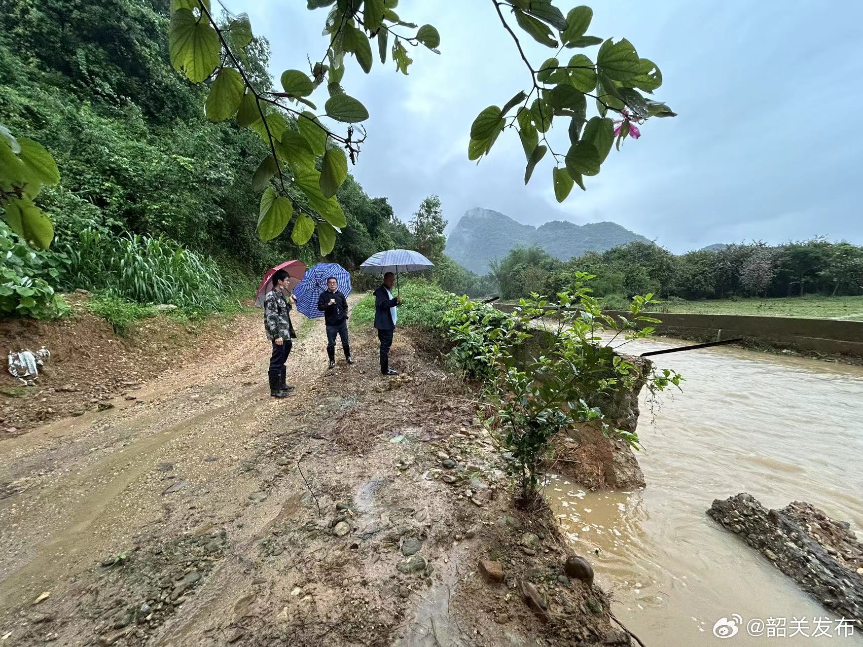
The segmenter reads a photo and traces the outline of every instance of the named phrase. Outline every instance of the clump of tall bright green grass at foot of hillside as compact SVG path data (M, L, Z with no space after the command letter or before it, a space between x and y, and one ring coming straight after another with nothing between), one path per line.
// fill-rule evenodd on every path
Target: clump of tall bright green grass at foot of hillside
M84 229L66 254L67 287L198 311L217 310L226 296L216 262L169 238Z

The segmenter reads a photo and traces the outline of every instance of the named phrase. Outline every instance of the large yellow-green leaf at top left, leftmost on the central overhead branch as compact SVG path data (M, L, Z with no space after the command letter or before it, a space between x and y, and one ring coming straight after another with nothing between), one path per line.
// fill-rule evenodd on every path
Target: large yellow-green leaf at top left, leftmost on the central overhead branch
M168 28L168 53L175 70L200 83L219 65L222 45L209 21L198 21L189 9L177 9Z

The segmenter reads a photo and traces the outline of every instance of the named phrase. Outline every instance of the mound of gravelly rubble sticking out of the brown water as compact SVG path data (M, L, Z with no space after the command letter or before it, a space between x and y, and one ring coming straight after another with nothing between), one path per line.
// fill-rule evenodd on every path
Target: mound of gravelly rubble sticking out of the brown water
M829 610L863 624L863 543L850 526L808 503L767 510L751 494L716 499L708 515L769 559Z

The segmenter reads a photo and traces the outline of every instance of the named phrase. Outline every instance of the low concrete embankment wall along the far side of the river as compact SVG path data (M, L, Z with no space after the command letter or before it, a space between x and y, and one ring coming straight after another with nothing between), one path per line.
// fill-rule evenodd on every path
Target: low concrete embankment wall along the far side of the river
M495 305L494 307L504 312L512 312L515 306ZM607 314L631 318L629 312L608 311ZM681 339L714 342L744 337L750 342L783 349L863 357L863 321L747 315L690 315L666 312L647 312L646 316L662 320L662 324L656 325L659 333Z

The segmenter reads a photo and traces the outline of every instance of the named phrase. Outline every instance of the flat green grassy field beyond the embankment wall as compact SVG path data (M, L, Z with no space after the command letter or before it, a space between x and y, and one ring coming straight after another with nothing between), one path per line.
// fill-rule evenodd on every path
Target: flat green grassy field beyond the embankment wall
M725 298L704 301L674 299L654 306L653 311L863 321L863 297Z

